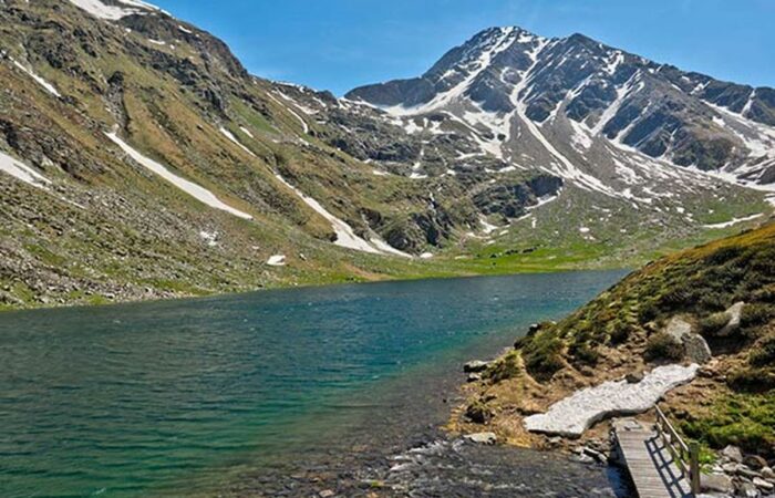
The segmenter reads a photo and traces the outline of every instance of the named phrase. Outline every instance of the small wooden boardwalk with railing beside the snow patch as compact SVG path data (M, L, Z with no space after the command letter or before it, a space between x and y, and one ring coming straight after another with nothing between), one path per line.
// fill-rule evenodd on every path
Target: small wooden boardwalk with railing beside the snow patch
M619 449L640 498L690 498L691 484L664 442L633 419L613 423Z

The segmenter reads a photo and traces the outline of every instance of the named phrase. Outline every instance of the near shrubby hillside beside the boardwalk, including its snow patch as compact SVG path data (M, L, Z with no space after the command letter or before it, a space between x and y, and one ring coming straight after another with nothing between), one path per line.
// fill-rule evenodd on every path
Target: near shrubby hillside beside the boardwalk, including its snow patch
M670 369L679 376L665 377ZM482 373L465 387L471 400L453 417L455 429L480 432L484 424L505 440L537 447L580 434L604 449L608 423L582 416L588 398L599 391L596 409L610 405L609 417L645 412L648 421L649 406L664 395L668 416L704 445L707 471L734 475L741 490L755 477L772 479L763 467L775 464L775 224L649 263L469 370ZM657 396L649 404L632 404L644 400L639 393L622 394L650 391L650 383ZM547 411L550 417L541 415ZM714 465L711 450L727 445L750 455L751 468L722 468L723 458ZM768 484L757 483L766 491Z

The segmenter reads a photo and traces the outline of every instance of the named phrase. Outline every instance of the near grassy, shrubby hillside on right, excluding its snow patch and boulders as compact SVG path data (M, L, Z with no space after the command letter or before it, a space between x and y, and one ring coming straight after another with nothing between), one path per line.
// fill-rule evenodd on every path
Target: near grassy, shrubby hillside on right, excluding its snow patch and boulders
M724 310L740 301L740 329L719 336ZM513 442L540 446L542 438L521 429L521 416L580 387L681 361L661 333L675 315L694 323L714 360L669 394L670 415L712 447L775 456L775 224L649 263L567 319L542 324L468 387L472 405Z

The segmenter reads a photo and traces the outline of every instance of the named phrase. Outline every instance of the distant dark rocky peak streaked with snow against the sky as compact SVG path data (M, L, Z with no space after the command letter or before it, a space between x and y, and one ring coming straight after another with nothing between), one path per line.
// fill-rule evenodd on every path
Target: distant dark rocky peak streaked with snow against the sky
M585 154L596 153L595 162L632 149L652 162L766 186L775 168L773 95L773 89L683 72L581 34L545 39L494 28L420 77L363 86L347 97L395 116L450 113L483 125L485 151L512 160L536 139L564 155L559 145L574 142ZM521 129L525 136L513 139ZM523 163L552 169L558 154L541 153L545 158L523 156ZM569 159L604 183L595 165Z

